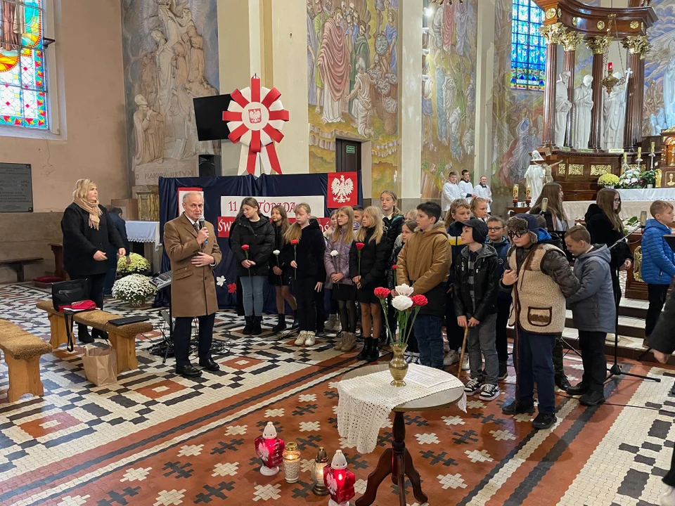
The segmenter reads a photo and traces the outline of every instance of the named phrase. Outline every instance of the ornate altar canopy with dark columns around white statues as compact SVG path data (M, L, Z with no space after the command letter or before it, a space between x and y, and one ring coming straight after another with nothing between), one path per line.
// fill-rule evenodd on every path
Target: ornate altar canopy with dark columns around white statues
M595 200L597 181L603 174L611 172L618 176L624 163L648 167L648 160L641 157L645 55L650 50L647 29L657 16L648 2L630 8L593 7L579 0L535 0L535 3L544 11L541 34L546 41L542 163L561 162L551 172L554 181L563 186L565 200ZM614 65L608 62L613 41L620 41L629 50L624 74L614 74ZM576 51L580 44L586 44L593 52L593 67L589 79L575 89ZM560 73L558 46L564 50ZM620 65L624 66L623 61ZM625 114L621 117L624 126L622 132L620 126L613 131L606 129L612 133L610 140L610 134L603 131L603 103L615 98L612 90L616 94L619 89L625 96ZM556 100L565 101L565 107L557 109ZM621 115L620 107L617 111ZM581 122L583 128L579 127ZM647 153L645 150L644 154ZM657 159L654 162L658 162L660 153L654 155ZM675 179L675 167L673 174Z

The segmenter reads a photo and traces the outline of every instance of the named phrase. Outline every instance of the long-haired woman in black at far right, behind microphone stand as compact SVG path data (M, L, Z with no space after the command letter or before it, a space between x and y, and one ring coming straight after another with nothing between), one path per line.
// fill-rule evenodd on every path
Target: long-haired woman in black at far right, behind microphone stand
M598 192L596 203L589 205L586 211L586 229L591 234L593 244L607 245L612 247L612 285L617 299L617 306L621 300L621 287L619 286L618 271L626 271L631 268L633 254L626 242L617 241L624 236L624 226L619 218L621 212L621 195L613 188L603 188Z

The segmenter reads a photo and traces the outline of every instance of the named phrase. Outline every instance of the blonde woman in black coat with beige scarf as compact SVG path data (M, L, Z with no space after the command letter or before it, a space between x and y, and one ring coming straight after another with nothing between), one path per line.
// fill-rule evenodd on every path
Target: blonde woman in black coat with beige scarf
M89 299L103 309L103 284L108 272L110 245L117 256L127 254L115 225L110 222L105 208L98 203L98 188L90 179L78 179L72 192L72 204L65 208L61 219L63 231L63 266L70 279L87 281ZM92 337L93 335L93 337ZM105 332L77 325L80 342L94 342L94 337L108 338Z

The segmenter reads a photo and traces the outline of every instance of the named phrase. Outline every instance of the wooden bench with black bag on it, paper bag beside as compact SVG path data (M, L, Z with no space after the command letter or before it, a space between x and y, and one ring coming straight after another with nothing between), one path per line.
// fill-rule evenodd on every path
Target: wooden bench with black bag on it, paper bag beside
M51 326L51 344L57 348L60 344L68 343L68 335L65 332L65 320L63 313L54 309L51 301L41 301L37 303L37 308L46 311L49 315L49 324ZM129 325L112 325L108 323L115 318L121 318L120 315L108 313L96 309L94 311L83 311L75 313L73 320L75 323L82 323L87 327L94 327L98 330L108 332L110 344L115 349L117 355L117 372L137 369L139 362L136 360L136 336L144 332L153 330L152 323L139 322ZM77 332L77 329L75 330ZM77 335L75 337L77 339Z

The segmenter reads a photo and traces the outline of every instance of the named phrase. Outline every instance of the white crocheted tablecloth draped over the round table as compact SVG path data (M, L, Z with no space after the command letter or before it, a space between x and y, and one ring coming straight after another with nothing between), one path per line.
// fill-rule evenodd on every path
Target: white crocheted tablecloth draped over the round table
M424 366L410 364L409 367ZM356 445L356 451L361 455L371 453L378 444L380 428L396 406L444 390L464 387L458 378L448 373L445 375L447 380L433 387L423 387L409 381L406 381L405 387L392 387L389 370L339 382L338 433L347 439L349 445ZM466 394L463 392L457 405L466 413Z

